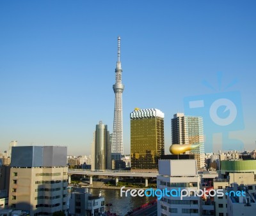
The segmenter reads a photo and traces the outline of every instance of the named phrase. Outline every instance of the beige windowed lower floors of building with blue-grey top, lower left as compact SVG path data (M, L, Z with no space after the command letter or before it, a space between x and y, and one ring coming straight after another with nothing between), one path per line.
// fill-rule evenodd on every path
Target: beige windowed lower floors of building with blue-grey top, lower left
M34 215L67 209L67 172L67 167L11 168L9 206Z

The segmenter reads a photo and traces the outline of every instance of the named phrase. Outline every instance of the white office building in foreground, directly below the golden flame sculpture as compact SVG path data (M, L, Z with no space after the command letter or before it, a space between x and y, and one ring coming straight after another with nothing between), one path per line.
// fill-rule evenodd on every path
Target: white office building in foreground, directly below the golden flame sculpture
M164 196L157 202L157 215L199 216L200 197L195 192L200 189L200 176L195 160L159 160L157 189L172 191L172 196ZM187 196L175 191L190 190ZM170 194L169 194L170 195Z

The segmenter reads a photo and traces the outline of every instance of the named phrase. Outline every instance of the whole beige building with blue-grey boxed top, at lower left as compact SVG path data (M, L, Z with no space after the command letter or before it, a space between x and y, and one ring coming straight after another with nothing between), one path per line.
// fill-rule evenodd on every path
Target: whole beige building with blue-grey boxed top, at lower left
M29 215L52 215L68 208L67 147L12 148L9 207Z

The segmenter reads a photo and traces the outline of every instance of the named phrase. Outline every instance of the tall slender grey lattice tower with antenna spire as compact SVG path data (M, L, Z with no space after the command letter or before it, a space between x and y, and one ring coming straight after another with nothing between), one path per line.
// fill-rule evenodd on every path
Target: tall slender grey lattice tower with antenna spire
M122 84L122 68L120 61L120 40L118 37L118 48L117 48L117 62L116 62L116 83L113 85L115 92L115 112L114 112L114 124L112 134L112 147L111 153L124 154L123 147L123 105L122 105L122 93L124 91L124 85Z

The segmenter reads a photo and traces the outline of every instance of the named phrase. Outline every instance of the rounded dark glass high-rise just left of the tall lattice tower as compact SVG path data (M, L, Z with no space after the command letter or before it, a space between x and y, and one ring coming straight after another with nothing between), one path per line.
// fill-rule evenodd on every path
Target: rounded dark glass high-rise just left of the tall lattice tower
M111 143L108 126L102 121L96 125L92 143L92 170L111 169Z

